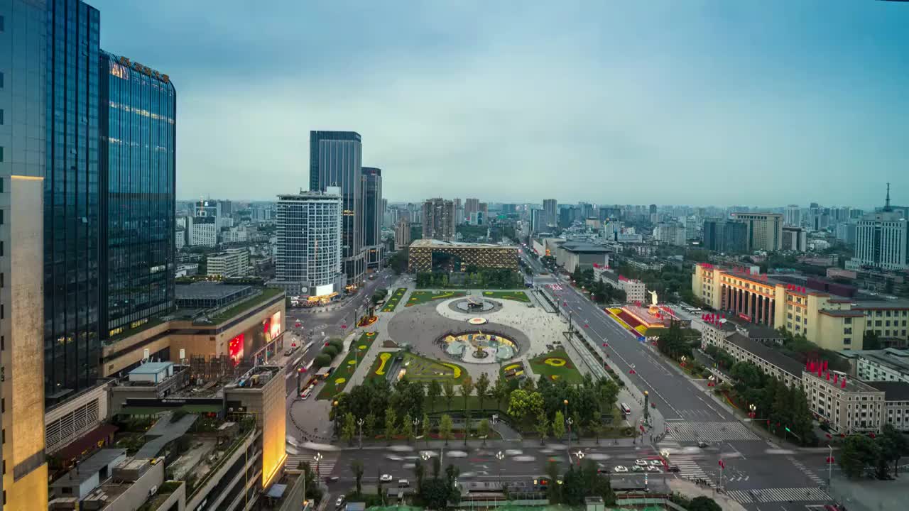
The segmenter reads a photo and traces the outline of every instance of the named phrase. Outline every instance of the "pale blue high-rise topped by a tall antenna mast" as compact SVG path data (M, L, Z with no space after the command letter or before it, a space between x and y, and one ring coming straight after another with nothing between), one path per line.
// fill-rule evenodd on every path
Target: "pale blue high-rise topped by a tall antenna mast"
M885 270L909 268L909 219L890 205L889 183L884 208L864 215L855 227L854 261Z

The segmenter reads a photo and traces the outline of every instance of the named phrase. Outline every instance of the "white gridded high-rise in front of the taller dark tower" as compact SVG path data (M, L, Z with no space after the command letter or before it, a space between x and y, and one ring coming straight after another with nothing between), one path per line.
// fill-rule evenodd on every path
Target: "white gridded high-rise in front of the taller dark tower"
M326 302L344 288L341 188L278 195L275 280L287 295Z

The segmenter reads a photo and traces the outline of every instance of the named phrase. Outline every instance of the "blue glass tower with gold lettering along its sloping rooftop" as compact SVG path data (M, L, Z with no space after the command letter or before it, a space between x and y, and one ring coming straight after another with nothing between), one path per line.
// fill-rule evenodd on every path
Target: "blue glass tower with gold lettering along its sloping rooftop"
M102 338L174 308L176 91L167 75L101 52Z

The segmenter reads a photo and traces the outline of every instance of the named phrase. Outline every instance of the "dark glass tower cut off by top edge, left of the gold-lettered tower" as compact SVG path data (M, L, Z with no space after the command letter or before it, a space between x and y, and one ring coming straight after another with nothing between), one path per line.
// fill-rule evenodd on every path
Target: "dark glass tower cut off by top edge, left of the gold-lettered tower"
M45 395L95 383L98 331L97 9L47 5L45 175Z

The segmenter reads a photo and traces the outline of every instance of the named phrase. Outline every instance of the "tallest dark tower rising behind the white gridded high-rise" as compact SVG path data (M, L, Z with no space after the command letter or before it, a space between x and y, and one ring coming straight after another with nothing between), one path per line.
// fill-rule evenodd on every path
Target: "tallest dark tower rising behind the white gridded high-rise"
M347 284L354 286L363 282L366 270L362 155L363 145L356 132L309 132L309 189L341 188L344 273Z

